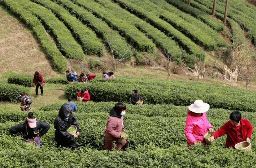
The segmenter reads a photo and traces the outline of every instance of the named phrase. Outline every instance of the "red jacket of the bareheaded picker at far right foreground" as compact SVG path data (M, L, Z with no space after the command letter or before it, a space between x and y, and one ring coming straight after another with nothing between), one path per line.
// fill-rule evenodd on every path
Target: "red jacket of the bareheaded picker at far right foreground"
M246 141L246 138L251 138L251 134L253 133L253 125L244 118L241 118L240 121L241 129L242 129L242 136L243 136L243 141ZM237 132L233 129L231 125L231 122L228 121L226 122L221 128L216 130L211 136L214 136L214 138L220 137L223 134L227 134L227 139L226 139L226 145L225 147L235 147L235 144L239 143L238 142L238 137L237 137Z

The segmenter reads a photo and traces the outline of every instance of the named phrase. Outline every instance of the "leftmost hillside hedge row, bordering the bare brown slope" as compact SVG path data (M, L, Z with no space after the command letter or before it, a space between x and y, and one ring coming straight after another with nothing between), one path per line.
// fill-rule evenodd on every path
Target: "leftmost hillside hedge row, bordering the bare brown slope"
M51 43L46 32L38 20L30 11L25 10L18 2L13 0L0 0L3 5L7 6L13 13L19 16L33 30L38 40L41 42L43 50L51 59L54 70L62 72L66 69L67 63L59 50Z

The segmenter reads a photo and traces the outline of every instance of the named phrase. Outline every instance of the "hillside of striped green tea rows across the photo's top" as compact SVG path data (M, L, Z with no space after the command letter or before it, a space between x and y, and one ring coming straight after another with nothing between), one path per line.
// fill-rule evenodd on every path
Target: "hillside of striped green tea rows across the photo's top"
M221 19L224 1L218 1L216 17L210 16L212 3L186 0L0 0L1 4L31 27L57 71L68 59L82 61L86 55L102 56L109 47L119 58L126 54L155 53L159 48L180 64L193 67L203 61L205 51L232 45ZM230 0L227 22L245 27L255 42L255 6ZM46 30L46 31L45 31ZM57 48L46 32L51 34Z

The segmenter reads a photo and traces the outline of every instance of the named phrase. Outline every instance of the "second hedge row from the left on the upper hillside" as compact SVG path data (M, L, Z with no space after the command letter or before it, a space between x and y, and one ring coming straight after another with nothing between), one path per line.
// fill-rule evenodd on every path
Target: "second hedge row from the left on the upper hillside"
M20 0L19 4L21 4L24 9L31 11L34 15L39 17L47 29L52 31L53 35L56 37L59 50L66 58L78 58L82 61L84 54L81 46L73 38L67 27L59 21L50 10L29 0Z

